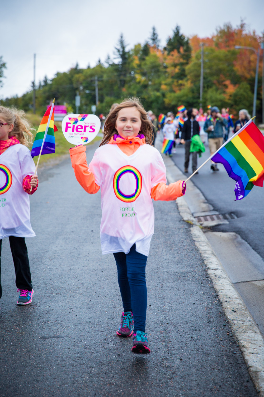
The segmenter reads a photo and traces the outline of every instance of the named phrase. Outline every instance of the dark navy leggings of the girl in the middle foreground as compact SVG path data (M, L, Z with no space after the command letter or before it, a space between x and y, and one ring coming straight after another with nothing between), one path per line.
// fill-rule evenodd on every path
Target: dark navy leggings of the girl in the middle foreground
M136 251L114 253L124 312L133 312L134 331L145 332L147 311L146 262L148 257Z

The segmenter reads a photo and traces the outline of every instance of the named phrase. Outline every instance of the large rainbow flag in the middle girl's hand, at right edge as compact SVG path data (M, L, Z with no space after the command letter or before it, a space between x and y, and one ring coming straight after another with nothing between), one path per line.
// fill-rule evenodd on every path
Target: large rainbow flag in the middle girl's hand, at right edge
M223 164L230 178L236 181L236 200L249 194L254 185L263 186L264 136L249 120L211 157Z

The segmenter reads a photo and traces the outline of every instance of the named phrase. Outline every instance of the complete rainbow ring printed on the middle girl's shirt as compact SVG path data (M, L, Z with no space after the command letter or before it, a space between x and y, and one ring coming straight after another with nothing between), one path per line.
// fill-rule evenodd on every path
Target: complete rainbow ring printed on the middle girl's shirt
M131 195L125 195L121 191L120 186L119 186L121 177L123 175L125 175L126 173L131 173L135 177L135 181L136 181L135 191L133 193L131 193ZM123 202L135 201L141 193L141 188L142 188L141 173L139 172L139 170L137 170L137 168L132 167L132 166L121 167L114 174L113 186L114 186L114 193L115 193L116 197L119 198L119 200L121 200Z

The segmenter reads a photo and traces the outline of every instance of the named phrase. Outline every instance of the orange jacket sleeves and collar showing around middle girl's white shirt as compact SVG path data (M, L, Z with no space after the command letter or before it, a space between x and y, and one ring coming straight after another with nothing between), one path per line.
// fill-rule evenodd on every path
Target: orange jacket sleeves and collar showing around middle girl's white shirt
M120 150L127 156L131 156L141 145L146 145L145 138L133 137L123 139L122 137L111 137L108 145L118 145ZM100 189L95 183L95 176L87 166L86 147L83 145L76 146L70 149L70 158L72 161L72 168L77 181L84 188L87 193L94 194ZM151 198L154 200L170 201L176 200L177 197L184 195L186 187L183 187L184 181L177 181L166 185L165 183L158 183L151 189Z

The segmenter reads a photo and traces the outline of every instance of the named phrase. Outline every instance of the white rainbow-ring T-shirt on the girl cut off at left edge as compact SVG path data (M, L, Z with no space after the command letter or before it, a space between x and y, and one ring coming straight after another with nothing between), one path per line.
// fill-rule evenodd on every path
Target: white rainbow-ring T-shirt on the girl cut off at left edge
M23 179L34 172L35 164L26 146L18 143L0 154L0 239L35 236L30 225L29 196L23 189Z

